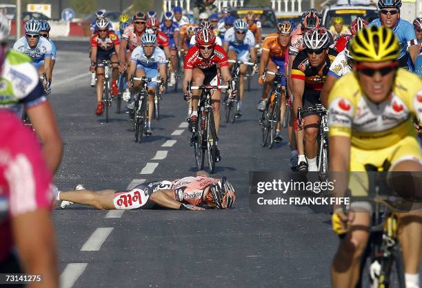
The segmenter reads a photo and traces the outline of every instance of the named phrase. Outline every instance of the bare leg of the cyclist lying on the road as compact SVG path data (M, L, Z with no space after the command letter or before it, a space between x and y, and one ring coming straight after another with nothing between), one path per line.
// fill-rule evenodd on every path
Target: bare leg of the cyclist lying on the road
M92 191L88 189L62 191L59 195L59 198L62 201L70 201L77 204L89 205L101 210L112 210L114 209L114 192L115 191L111 189L101 191Z

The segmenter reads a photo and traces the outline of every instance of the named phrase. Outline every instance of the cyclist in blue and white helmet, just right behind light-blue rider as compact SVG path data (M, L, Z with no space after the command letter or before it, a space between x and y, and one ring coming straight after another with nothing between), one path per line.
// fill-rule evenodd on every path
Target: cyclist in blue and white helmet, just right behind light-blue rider
M160 30L167 35L170 44L170 62L172 69L170 71L170 80L168 86L172 87L176 84L176 67L177 67L177 50L180 44L180 26L177 22L173 21L174 13L168 11L164 13L163 21L160 24Z

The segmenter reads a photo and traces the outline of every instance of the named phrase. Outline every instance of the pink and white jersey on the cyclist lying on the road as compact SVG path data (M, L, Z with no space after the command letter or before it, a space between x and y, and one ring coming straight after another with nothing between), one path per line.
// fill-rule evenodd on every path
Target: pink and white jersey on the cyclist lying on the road
M172 182L172 190L174 191L174 199L179 202L186 202L192 205L198 205L203 202L203 191L210 186L211 183L217 184L218 179L211 177L184 177Z

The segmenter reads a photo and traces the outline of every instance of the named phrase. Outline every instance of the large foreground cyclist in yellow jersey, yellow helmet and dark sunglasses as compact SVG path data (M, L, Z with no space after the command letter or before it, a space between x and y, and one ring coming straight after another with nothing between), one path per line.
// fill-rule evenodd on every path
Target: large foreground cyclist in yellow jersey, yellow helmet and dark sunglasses
M330 107L330 171L365 171L366 165L391 171L422 171L422 156L412 115L422 118L422 81L399 68L399 41L392 30L368 27L350 43L353 73L336 81ZM360 174L365 180L365 174ZM389 173L391 175L391 173ZM388 177L392 182L399 177ZM366 179L368 180L368 179ZM352 196L365 196L368 187L350 177ZM400 189L421 193L401 182ZM345 189L345 187L344 187ZM397 191L401 193L403 191ZM343 195L337 187L336 193ZM421 197L421 195L416 195ZM334 207L334 231L345 237L332 262L332 286L355 287L360 258L368 241L372 208L368 202L351 204L346 216ZM361 213L358 213L361 212ZM403 249L406 287L419 287L421 213L399 213L399 242ZM347 229L346 229L347 227Z

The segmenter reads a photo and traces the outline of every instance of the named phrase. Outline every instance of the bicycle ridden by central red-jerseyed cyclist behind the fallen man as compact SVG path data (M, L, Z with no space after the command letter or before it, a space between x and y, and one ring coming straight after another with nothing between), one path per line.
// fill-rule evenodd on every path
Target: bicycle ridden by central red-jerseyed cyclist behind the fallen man
M215 171L216 152L217 152L217 133L214 124L214 113L211 106L211 90L228 89L230 83L226 86L219 85L201 85L192 86L188 82L188 94L192 97L192 90L202 90L198 104L197 126L192 129L190 145L194 147L195 162L198 171L203 169L205 162L205 151L208 154L208 169L210 173Z

